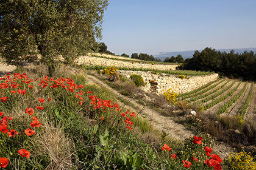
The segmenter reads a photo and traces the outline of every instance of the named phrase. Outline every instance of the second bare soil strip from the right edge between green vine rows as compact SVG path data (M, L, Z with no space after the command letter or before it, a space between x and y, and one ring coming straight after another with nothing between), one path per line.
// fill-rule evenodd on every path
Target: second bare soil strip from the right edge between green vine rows
M246 90L241 95L238 100L236 100L235 103L232 104L232 106L229 107L226 113L222 114L222 116L232 116L232 115L238 115L241 108L243 107L244 102L246 101L247 96L249 95L251 89L251 83L247 84Z

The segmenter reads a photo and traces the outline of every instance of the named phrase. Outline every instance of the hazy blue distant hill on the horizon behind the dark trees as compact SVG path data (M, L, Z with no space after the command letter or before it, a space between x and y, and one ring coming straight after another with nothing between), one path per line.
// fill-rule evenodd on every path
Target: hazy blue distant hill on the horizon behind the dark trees
M216 49L221 52L230 52L231 50L235 50L236 53L243 53L245 50L247 52L253 51L256 53L256 48L245 48L245 49ZM165 60L166 57L170 56L177 56L177 55L182 55L184 59L186 58L192 58L195 50L189 50L189 51L183 51L183 52L160 52L158 55L154 55L155 58L159 58L160 60ZM201 52L202 50L199 50Z

